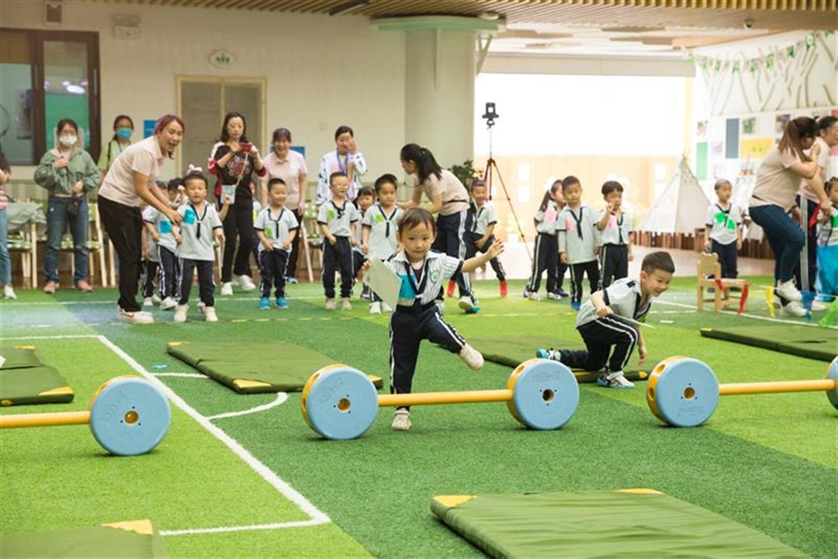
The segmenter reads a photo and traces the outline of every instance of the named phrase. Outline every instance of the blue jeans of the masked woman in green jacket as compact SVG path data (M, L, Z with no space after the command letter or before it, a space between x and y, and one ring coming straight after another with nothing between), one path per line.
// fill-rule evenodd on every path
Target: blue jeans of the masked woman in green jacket
M48 282L58 283L58 257L61 239L70 224L75 252L73 282L87 279L87 199L82 198L79 213L70 215L70 198L52 196L47 203L47 250L44 253L44 276Z

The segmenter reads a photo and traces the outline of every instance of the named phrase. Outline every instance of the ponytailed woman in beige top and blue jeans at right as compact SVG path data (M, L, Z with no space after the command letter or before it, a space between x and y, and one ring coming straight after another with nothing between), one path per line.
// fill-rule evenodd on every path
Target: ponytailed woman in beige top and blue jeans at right
M804 234L789 213L799 217L794 195L800 180L809 181L820 199L820 208L828 211L830 200L818 174L820 145L815 143L815 120L799 116L786 125L783 137L768 151L757 171L757 184L748 204L753 221L763 227L774 253L776 292L784 302L784 311L803 316L801 296L794 285L794 269L804 246ZM804 150L812 148L807 156Z

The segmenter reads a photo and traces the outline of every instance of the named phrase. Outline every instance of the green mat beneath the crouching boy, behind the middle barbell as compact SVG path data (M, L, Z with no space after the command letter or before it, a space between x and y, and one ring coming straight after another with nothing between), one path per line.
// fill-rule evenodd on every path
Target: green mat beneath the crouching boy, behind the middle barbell
M582 338L574 340L560 339L554 336L486 336L482 338L469 338L468 344L474 349L477 349L483 354L487 361L498 363L499 365L506 365L507 367L515 368L526 360L535 358L535 349L556 348L556 349L585 349L585 344ZM626 370L623 372L629 380L645 380L649 374L643 369L641 365L637 365L637 354L632 356ZM649 369L654 367L655 361L649 357L646 364ZM596 373L587 373L585 371L573 371L579 382L596 382Z

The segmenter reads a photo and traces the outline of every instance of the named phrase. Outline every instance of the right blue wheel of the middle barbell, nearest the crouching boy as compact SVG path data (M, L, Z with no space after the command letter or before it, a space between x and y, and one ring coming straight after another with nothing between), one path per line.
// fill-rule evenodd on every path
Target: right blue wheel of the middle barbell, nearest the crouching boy
M525 361L512 372L507 387L512 390L512 415L531 429L558 429L579 405L576 376L557 361Z

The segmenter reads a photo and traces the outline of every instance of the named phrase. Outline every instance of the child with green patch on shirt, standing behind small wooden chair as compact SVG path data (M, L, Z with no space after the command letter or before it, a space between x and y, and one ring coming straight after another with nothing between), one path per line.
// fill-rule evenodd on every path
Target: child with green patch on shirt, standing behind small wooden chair
M742 212L731 202L733 186L727 179L718 179L716 204L707 209L704 222L704 251L719 257L722 277L737 277L737 251L742 248Z

